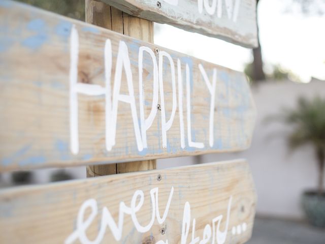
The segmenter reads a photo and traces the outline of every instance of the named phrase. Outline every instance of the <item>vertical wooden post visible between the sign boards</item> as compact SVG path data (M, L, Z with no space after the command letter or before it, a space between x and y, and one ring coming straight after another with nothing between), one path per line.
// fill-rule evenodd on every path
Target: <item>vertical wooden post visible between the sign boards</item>
M153 22L123 13L105 3L85 0L86 22L98 25L114 32L153 42ZM87 166L87 177L152 170L156 160Z

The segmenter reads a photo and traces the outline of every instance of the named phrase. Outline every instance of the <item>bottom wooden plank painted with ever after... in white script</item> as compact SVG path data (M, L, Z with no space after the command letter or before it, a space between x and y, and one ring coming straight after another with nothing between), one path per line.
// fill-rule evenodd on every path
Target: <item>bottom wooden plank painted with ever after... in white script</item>
M244 243L255 204L243 160L21 187L0 191L0 243Z

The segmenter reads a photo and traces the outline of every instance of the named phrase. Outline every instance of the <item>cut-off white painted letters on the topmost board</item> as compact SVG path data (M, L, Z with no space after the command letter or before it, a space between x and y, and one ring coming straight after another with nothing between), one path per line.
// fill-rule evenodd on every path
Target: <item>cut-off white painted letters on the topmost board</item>
M209 15L214 15L215 11L217 10L217 16L218 18L222 17L222 2L225 3L226 11L228 14L228 18L232 19L234 22L237 21L238 13L239 13L239 7L240 7L240 1L241 0L234 0L235 3L233 3L233 0L212 0L212 3L210 5L211 0L198 0L198 9L199 13L203 13L203 7L205 11ZM178 6L178 0L164 0L164 2Z

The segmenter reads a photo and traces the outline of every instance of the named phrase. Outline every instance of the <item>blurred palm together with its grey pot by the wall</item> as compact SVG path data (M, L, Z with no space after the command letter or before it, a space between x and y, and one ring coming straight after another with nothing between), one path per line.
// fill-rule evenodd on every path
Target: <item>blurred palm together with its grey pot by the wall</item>
M302 205L309 222L318 227L325 227L325 99L315 97L311 100L300 98L295 109L284 109L278 116L293 130L288 133L290 149L302 145L312 145L318 166L318 188L306 191L302 197Z

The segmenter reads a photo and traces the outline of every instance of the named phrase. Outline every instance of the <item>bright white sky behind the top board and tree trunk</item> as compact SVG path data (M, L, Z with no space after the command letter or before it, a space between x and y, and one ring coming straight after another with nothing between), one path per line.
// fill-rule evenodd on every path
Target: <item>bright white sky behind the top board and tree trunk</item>
M325 11L322 0L316 10ZM287 0L261 0L258 5L260 41L266 71L279 65L302 82L325 80L325 15L304 15ZM173 37L173 38L171 38ZM208 62L243 71L251 50L215 38L155 23L154 43ZM204 43L205 45L198 45Z

